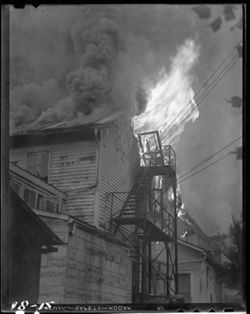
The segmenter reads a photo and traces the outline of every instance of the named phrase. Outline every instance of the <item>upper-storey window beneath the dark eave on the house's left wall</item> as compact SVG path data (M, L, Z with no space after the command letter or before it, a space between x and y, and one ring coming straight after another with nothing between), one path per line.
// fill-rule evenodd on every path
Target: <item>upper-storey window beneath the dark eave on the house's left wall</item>
M49 152L36 152L27 154L26 169L39 179L48 182Z

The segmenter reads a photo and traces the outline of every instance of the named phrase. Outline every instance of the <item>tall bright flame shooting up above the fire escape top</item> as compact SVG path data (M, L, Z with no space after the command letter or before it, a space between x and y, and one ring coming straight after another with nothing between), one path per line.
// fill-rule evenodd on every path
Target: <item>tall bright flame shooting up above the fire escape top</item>
M163 70L160 80L151 87L146 110L133 118L135 134L158 130L162 141L176 143L184 125L198 118L190 74L198 57L199 47L193 40L186 40L172 59L170 72Z

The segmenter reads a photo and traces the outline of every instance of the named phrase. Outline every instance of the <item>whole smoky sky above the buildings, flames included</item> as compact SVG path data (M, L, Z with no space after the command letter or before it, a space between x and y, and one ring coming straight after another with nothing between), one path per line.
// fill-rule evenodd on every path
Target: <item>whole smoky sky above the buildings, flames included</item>
M10 131L125 110L135 134L164 132L188 106L166 138L181 176L242 135L242 108L225 100L242 97L242 58L196 99L242 40L241 16L240 5L12 8ZM227 232L232 215L240 217L241 167L229 154L180 182L185 210L208 234Z

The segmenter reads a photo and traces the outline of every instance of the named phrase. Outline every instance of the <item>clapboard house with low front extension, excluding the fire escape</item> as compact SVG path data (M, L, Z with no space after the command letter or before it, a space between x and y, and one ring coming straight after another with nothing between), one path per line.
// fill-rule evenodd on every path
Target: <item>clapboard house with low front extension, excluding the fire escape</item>
M128 246L106 232L107 197L131 188L139 162L120 125L108 119L12 137L11 185L66 243L42 260L40 301L130 300Z

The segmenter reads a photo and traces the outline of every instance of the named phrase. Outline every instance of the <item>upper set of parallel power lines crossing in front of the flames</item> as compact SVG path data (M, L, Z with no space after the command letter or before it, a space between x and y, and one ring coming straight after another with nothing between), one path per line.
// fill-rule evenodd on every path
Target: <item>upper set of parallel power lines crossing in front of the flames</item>
M236 63L236 61L238 60L239 56L234 56L233 59L229 62L229 64L226 65L226 67L218 74L218 76L214 79L213 82L211 82L210 86L207 88L207 90L203 90L203 87L205 87L208 82L216 75L216 73L218 72L218 70L225 64L225 62L227 61L227 59L230 57L230 55L234 52L235 49L238 49L238 47L240 46L241 41L239 41L239 43L232 49L232 51L227 55L227 57L219 64L219 66L217 66L216 70L209 76L209 78L203 83L203 85L201 86L201 88L198 90L198 92L196 93L196 97L200 97L200 99L197 100L197 107L198 107L198 102L201 103L201 101L203 101L205 99L205 97L211 92L211 90L216 86L216 84L225 76L225 74L231 69L231 67ZM201 93L201 95L199 96L199 93ZM169 132L173 132L172 130L175 129L177 126L179 126L179 124L175 125L172 129L171 126L173 125L174 121L176 121L176 119L180 116L183 115L185 112L185 108L188 108L188 105L192 102L192 100L190 100L186 106L184 107L184 111L181 110L176 117L171 121L170 125L167 127L167 129L162 133L161 136L164 136L164 134L168 135ZM185 119L187 117L187 115L193 110L193 108L189 109L188 112L185 114L185 116L183 116L183 118ZM183 122L182 119L180 122ZM169 130L170 129L170 130ZM169 132L168 132L169 130ZM170 134L171 134L170 133ZM164 136L165 137L165 136Z

